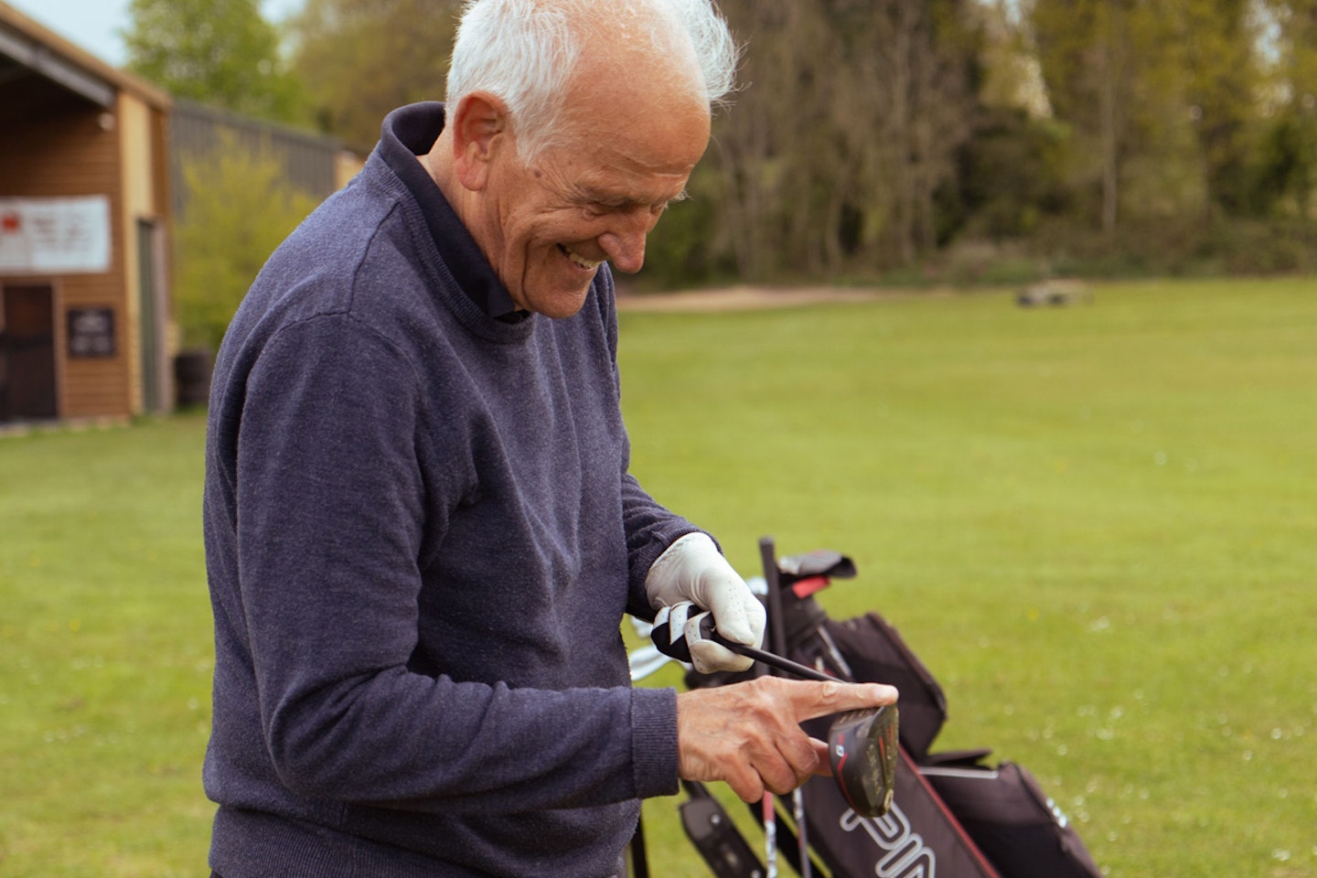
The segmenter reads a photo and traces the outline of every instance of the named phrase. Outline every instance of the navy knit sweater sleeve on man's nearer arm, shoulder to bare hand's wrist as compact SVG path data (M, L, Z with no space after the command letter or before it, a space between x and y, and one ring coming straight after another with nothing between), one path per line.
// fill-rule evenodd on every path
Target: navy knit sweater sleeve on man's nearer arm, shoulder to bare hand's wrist
M421 507L435 486L415 453L420 386L387 338L346 313L284 326L250 363L233 446L232 621L282 783L468 813L672 792L670 690L510 688L408 670L433 527Z

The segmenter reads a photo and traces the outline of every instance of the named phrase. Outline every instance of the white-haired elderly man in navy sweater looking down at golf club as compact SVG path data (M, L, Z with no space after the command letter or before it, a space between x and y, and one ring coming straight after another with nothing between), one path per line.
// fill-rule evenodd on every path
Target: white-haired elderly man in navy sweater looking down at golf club
M785 792L820 765L801 720L894 699L630 686L626 612L764 627L627 471L607 267L640 269L734 61L707 0L469 3L446 105L391 113L253 284L207 445L217 874L611 875L639 799Z

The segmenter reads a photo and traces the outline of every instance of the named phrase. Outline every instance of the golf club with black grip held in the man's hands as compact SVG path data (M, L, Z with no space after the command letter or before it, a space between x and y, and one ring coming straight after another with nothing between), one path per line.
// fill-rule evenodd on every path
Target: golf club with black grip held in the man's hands
M658 652L690 661L687 620L698 619L699 637L802 679L834 682L827 674L766 650L727 640L714 628L712 613L695 604L664 607L655 619L651 637ZM897 771L896 706L839 715L828 729L828 760L842 798L863 817L881 817L892 808Z

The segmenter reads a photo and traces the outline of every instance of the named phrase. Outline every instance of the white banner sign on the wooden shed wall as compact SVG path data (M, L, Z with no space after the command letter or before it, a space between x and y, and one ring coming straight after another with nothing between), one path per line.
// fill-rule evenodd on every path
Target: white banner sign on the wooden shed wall
M0 274L109 271L109 199L0 199Z

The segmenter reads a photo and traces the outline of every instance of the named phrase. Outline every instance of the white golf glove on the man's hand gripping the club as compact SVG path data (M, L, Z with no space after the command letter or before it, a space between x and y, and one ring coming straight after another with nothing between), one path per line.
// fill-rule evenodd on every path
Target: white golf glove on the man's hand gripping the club
M645 577L645 596L655 609L695 603L714 613L719 634L738 644L759 646L764 640L764 604L707 533L687 533L658 555ZM690 658L701 674L743 671L753 663L711 640L690 641Z

